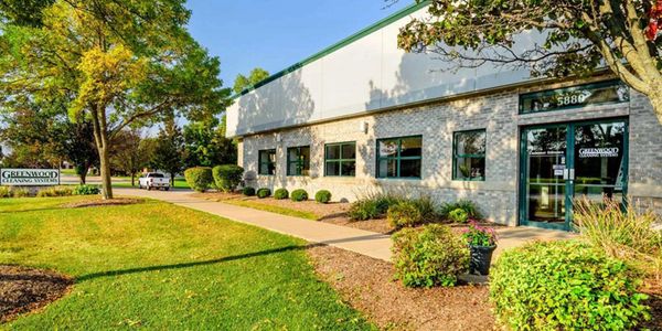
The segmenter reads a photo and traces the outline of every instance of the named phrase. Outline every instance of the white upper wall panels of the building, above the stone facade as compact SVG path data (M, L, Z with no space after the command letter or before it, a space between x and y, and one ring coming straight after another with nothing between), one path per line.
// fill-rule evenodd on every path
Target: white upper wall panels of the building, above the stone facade
M414 7L413 7L414 9ZM528 71L483 65L478 70L440 71L434 54L397 47L401 26L427 13L415 7L405 15L235 99L227 109L227 136L237 137L350 116L426 99L478 92L530 79ZM404 12L407 12L406 10ZM398 18L399 17L399 18ZM534 33L520 35L517 47Z

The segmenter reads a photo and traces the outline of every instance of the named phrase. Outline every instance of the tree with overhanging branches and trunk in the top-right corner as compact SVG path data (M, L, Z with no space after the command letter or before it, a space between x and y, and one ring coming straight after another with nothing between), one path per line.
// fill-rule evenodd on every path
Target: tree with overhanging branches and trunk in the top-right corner
M397 0L396 0L397 1ZM421 0L417 0L421 2ZM434 52L457 67L525 66L534 75L585 76L607 65L651 100L662 122L662 1L431 0L428 14L401 29L398 46ZM515 36L544 42L524 52Z

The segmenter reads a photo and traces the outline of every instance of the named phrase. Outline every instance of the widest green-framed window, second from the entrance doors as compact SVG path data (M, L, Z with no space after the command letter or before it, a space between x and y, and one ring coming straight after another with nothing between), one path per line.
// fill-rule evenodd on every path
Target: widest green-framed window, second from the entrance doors
M420 178L423 137L377 140L377 178Z

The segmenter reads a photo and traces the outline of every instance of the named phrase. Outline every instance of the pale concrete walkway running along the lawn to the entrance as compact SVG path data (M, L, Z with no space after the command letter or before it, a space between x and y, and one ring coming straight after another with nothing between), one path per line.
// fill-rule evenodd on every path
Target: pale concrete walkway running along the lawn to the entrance
M391 237L388 235L357 229L353 227L313 222L310 220L285 216L270 212L207 201L191 196L192 191L146 191L137 189L115 189L119 195L151 197L193 210L206 212L236 222L264 227L274 232L302 238L311 243L331 245L373 258L391 260ZM575 235L567 232L533 227L498 228L498 256L503 249L516 247L533 239L567 239Z

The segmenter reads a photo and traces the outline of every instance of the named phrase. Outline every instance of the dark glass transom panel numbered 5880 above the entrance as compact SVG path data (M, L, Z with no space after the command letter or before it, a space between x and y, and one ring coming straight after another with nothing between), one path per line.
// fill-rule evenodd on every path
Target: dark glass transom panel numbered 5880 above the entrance
M628 87L622 82L609 81L523 94L520 96L520 114L623 103L629 99Z

